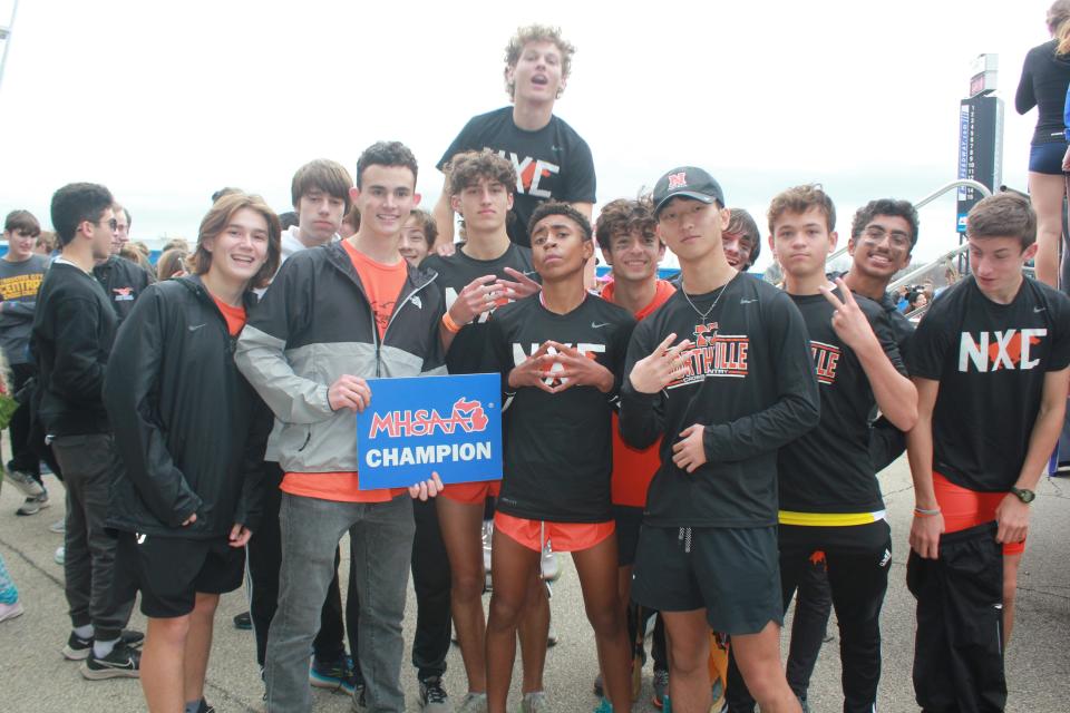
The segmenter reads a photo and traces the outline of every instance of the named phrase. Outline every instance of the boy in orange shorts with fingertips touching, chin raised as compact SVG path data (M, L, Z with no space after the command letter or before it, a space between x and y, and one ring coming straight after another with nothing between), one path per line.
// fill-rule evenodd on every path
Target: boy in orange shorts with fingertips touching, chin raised
M611 414L635 320L584 289L594 241L583 214L546 203L529 227L543 291L499 307L490 320L506 411L487 622L488 710L505 711L517 625L527 602L542 596L539 558L552 538L555 550L573 554L580 575L613 704L600 710L626 712L631 654L617 599ZM522 709L547 710L545 693L525 690Z

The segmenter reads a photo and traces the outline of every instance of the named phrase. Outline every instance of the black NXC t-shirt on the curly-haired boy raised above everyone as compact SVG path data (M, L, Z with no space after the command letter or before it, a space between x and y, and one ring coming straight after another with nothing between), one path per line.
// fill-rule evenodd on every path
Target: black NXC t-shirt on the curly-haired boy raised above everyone
M442 157L438 169L457 154L490 149L513 162L516 168L516 194L513 212L516 221L508 225L509 238L531 247L527 222L544 201L594 203L595 177L591 148L575 129L553 116L549 124L526 131L513 121L513 107L503 107L469 119Z

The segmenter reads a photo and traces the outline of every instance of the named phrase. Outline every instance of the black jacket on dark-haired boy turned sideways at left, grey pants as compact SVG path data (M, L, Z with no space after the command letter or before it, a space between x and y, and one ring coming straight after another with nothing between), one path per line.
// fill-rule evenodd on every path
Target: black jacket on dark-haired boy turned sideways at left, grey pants
M38 370L38 413L51 436L107 433L100 395L116 316L100 284L57 260L37 293L30 349Z

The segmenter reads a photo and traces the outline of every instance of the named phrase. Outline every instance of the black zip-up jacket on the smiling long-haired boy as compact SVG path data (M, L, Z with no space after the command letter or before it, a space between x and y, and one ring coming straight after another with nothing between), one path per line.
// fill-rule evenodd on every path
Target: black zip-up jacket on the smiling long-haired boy
M150 285L137 301L104 384L126 465L109 527L188 539L225 536L235 522L257 529L272 420L234 365L235 342L200 277Z

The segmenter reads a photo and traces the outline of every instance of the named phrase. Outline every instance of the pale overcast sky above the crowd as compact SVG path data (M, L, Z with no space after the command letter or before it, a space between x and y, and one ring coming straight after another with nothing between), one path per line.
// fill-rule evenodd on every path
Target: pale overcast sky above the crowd
M999 53L1008 102L1003 180L1025 189L1035 111L1018 116L1013 94L1049 4L21 0L0 87L0 211L47 224L56 188L94 180L129 206L135 240L195 238L213 191L290 209L301 164L353 170L378 139L414 149L431 204L453 137L507 104L509 35L541 21L578 50L557 114L591 145L600 203L694 164L765 232L769 198L814 180L846 240L869 198L955 178L981 52ZM9 12L0 0L0 22ZM949 195L922 213L917 255L956 244L953 208Z

